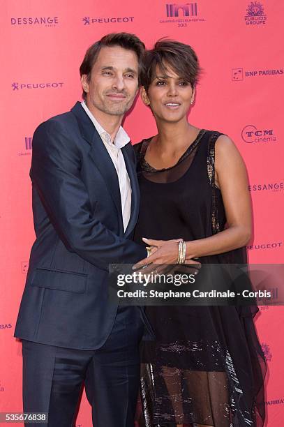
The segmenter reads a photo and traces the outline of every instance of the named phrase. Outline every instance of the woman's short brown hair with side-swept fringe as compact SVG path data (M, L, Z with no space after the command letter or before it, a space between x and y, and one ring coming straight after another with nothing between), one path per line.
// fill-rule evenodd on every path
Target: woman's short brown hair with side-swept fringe
M176 40L160 39L152 50L148 50L145 56L145 73L142 84L146 91L156 77L156 67L166 76L167 70L173 70L183 80L195 87L200 76L200 65L190 45Z

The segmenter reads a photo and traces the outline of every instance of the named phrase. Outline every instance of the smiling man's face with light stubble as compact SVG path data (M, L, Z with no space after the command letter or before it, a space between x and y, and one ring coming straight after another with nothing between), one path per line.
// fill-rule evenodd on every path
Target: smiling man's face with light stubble
M92 112L123 116L138 91L137 55L120 46L102 47L89 80L82 75L81 82Z

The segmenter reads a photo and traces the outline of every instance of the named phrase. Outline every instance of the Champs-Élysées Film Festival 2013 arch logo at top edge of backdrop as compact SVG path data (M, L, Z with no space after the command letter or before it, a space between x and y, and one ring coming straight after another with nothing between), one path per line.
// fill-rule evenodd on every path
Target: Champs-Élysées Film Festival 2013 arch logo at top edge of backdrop
M177 24L177 27L187 27L190 22L202 22L204 18L198 16L197 3L167 3L165 5L167 19L160 20L160 24Z

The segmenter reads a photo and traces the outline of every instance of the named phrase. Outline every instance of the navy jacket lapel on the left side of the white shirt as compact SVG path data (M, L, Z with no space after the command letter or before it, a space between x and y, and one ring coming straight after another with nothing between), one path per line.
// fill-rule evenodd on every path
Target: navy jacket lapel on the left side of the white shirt
M77 118L82 137L84 140L89 142L91 146L89 156L94 161L96 167L100 171L100 174L105 180L105 185L107 186L107 189L112 196L112 200L117 207L119 218L121 218L122 223L119 180L117 177L117 171L115 170L114 164L112 163L112 159L110 158L109 153L107 153L107 149L105 148L94 124L91 122L91 119L89 119L86 112L84 112L82 105L77 102L71 111Z

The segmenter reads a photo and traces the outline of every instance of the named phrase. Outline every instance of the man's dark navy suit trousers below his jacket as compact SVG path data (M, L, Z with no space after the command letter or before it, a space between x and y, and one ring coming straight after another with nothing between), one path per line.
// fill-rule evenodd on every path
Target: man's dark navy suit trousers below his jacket
M71 427L83 385L96 427L133 427L140 383L144 322L137 307L122 307L98 350L72 350L22 340L24 412L48 412L48 424Z

